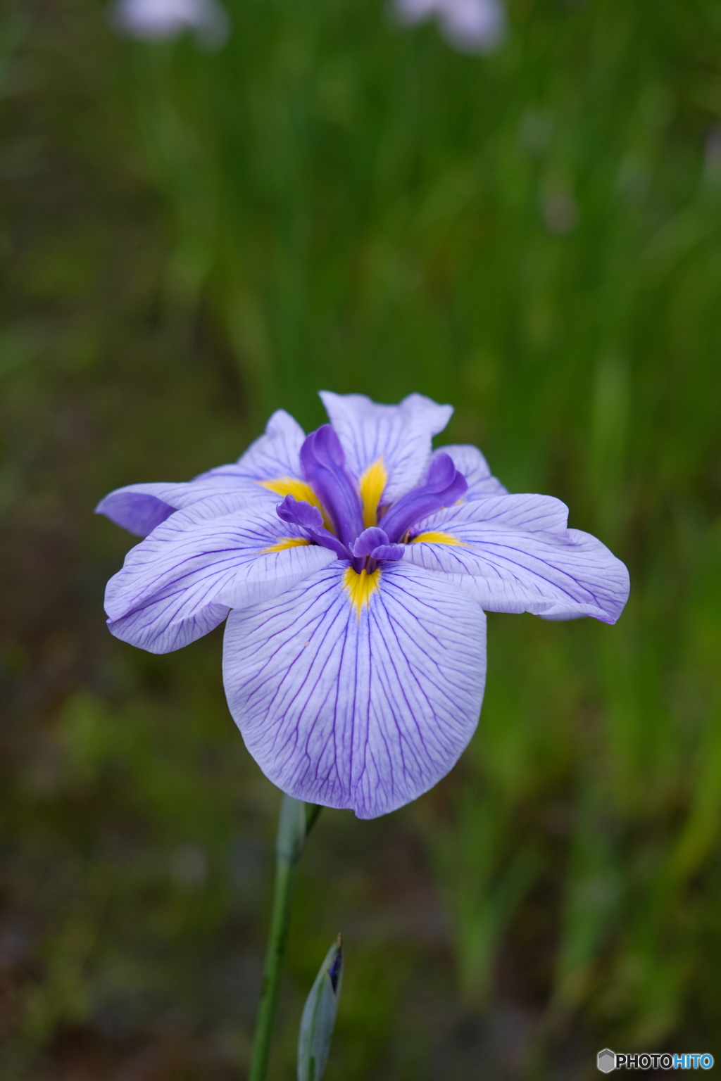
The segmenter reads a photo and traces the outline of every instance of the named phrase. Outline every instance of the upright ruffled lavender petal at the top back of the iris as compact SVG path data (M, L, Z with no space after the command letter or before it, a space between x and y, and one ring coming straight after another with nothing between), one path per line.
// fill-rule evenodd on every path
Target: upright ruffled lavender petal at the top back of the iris
M409 395L399 405L379 405L365 395L321 390L325 411L360 479L379 458L387 472L382 503L391 503L419 483L428 468L430 441L451 419L452 405Z

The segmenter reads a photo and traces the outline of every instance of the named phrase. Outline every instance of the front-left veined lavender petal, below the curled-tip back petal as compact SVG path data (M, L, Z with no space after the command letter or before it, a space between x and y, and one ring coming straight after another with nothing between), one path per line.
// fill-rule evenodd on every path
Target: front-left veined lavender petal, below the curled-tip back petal
M198 504L173 515L128 553L105 595L117 638L170 653L216 627L229 608L270 600L336 560L273 509L250 519L206 510Z

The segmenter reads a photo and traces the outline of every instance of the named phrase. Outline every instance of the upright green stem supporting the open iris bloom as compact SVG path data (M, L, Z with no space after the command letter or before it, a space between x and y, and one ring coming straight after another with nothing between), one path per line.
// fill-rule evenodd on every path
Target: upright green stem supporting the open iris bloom
M291 922L295 866L301 858L308 833L320 808L283 796L276 837L276 882L270 913L270 931L263 970L263 987L248 1081L265 1081L270 1058L270 1041L280 993L280 980L285 958L288 930Z

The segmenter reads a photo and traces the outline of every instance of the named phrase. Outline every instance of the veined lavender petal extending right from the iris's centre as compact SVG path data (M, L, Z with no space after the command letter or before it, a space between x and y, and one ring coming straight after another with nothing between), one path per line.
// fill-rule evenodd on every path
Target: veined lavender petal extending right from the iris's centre
M615 623L628 571L596 537L566 529L566 516L559 499L543 495L450 507L413 528L405 561L443 575L488 612Z

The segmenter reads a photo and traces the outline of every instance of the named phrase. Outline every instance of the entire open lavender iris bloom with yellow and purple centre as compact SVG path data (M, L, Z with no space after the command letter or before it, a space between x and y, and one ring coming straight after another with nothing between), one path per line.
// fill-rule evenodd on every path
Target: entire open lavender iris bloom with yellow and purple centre
M373 818L431 788L470 739L485 611L614 623L628 573L550 496L510 495L475 446L431 451L452 408L323 392L233 465L131 484L97 510L145 536L108 583L114 635L168 653L227 617L230 711L296 799Z

